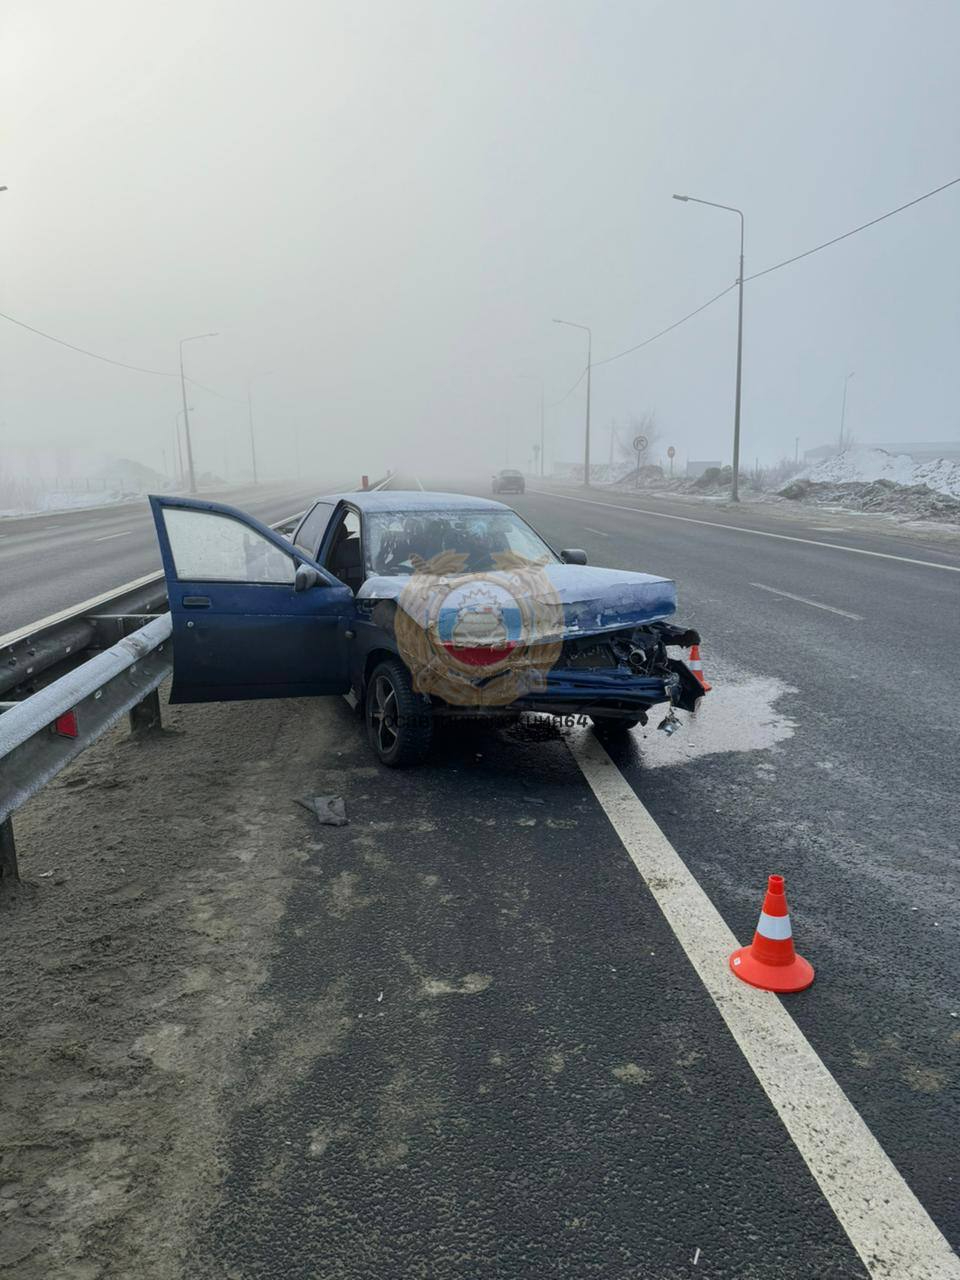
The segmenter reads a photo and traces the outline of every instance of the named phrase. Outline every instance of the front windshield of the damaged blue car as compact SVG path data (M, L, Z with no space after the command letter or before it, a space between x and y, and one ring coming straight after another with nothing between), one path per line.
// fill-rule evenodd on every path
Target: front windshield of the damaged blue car
M495 556L558 563L534 530L512 511L394 511L367 517L366 556L371 573L412 573L415 559L442 552L466 556L465 572L498 567Z

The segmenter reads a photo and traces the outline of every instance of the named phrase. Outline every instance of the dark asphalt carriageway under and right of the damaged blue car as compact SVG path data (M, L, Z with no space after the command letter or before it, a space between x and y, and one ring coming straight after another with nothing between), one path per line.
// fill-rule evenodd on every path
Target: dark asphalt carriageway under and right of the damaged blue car
M623 778L744 942L768 873L786 874L818 969L788 1009L956 1245L960 694L943 659L960 575L933 566L960 567L960 547L827 532L815 515L809 529L576 499L507 500L591 563L675 577L716 684L696 730L637 731L613 753ZM635 506L649 513L617 509ZM863 1275L566 749L448 741L438 755L378 780L379 808L415 833L390 837L376 923L319 928L305 886L274 991L292 1012L332 969L372 975L389 956L451 993L411 1024L403 1005L378 1010L369 982L367 1016L383 1019L243 1116L221 1262L306 1276L323 1251L325 1275ZM470 974L489 993L470 993ZM335 1171L306 1155L259 1198L305 1116L347 1117L321 1126ZM388 1135L374 1156L371 1133Z

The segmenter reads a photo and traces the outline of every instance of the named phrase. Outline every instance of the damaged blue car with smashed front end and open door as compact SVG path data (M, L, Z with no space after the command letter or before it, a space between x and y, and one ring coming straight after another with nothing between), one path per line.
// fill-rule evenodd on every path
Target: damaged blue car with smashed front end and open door
M705 686L668 653L676 586L588 567L503 503L448 493L320 498L291 538L220 503L150 499L173 617L174 703L352 694L388 765L439 717L588 716L623 733Z

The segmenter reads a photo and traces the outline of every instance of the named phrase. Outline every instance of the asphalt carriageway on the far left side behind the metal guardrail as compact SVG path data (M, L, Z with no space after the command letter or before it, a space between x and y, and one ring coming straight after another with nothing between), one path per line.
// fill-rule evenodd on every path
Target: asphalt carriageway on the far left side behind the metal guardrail
M201 497L241 507L269 524L302 511L319 493L319 485L300 481ZM0 520L0 635L159 568L146 502Z

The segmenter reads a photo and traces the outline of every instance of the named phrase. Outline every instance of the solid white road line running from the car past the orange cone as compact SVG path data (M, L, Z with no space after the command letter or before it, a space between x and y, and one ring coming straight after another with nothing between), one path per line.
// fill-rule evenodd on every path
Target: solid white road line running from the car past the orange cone
M730 972L740 943L603 746L589 731L568 744L869 1275L960 1280L960 1258L777 996Z

